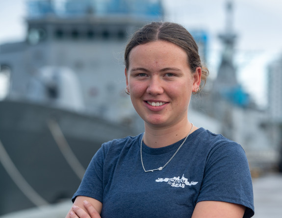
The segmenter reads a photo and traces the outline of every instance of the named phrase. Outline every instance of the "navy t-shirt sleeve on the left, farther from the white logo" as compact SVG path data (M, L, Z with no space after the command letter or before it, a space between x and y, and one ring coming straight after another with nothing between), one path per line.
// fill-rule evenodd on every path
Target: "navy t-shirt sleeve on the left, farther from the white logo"
M77 196L87 196L95 198L102 202L103 200L103 163L104 163L104 146L96 152L90 164L85 171L82 181L74 194L72 201Z

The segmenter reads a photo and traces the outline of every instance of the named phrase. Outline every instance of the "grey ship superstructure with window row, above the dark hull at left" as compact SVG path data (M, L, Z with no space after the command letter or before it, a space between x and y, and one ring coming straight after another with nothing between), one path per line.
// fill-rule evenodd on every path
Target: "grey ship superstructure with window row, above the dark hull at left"
M39 72L68 68L77 75L87 113L111 121L128 117L123 51L133 31L162 19L160 1L33 0L28 9L26 41L0 47L0 63L12 71L9 97L43 99L34 96ZM56 92L49 97L60 97Z

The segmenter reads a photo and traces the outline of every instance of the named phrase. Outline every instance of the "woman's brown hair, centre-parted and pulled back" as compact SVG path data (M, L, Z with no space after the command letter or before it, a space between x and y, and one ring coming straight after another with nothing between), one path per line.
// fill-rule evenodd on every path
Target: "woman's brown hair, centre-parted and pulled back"
M125 65L129 67L129 53L135 46L163 40L174 43L182 48L188 56L188 64L192 72L196 71L197 67L202 68L201 80L206 82L208 69L202 66L198 52L198 46L192 35L180 24L170 22L152 22L141 29L137 30L129 41L125 50Z

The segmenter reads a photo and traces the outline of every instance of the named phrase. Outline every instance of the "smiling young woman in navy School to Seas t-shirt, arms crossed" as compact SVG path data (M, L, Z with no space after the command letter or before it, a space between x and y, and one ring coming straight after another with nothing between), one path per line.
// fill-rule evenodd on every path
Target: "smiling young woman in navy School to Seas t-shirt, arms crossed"
M125 51L126 92L145 132L104 143L67 218L250 218L248 161L240 145L188 120L205 84L190 33L174 23L138 30Z

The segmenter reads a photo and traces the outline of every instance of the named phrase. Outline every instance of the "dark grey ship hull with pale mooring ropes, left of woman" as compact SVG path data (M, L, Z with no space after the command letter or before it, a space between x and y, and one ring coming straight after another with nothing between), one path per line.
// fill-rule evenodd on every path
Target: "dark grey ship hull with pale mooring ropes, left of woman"
M92 116L1 101L0 215L71 198L102 143L127 135L132 128Z

